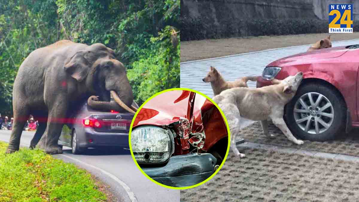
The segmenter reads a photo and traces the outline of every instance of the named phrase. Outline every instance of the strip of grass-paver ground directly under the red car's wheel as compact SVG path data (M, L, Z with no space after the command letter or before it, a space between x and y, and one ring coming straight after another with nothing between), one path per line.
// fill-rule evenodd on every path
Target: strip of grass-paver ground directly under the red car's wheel
M241 131L241 138L244 138L247 142L271 144L276 146L300 148L303 150L320 151L327 153L345 154L351 156L359 156L359 129L354 129L350 133L340 133L338 138L334 141L327 142L311 142L304 141L304 144L297 145L292 141L289 141L285 135L270 122L269 124L270 134L274 134L276 137L273 139L267 138L262 133L262 127L259 122L256 122Z

